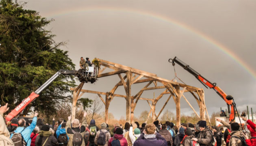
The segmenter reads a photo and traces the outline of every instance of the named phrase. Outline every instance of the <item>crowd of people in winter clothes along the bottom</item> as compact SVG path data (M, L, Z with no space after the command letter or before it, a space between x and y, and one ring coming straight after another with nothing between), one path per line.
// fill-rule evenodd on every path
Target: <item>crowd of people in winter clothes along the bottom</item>
M0 107L0 146L221 146L222 137L226 146L256 146L256 125L245 117L242 119L247 130L236 122L218 118L221 127L209 127L204 120L182 123L179 127L156 120L142 125L126 122L124 127L116 123L109 129L104 122L97 127L93 119L87 125L86 112L81 123L78 119L71 121L69 116L67 121L53 119L52 125L44 125L37 119L37 112L33 120L13 118L8 123L3 116L9 109L7 105ZM224 134L220 131L223 127L226 127Z

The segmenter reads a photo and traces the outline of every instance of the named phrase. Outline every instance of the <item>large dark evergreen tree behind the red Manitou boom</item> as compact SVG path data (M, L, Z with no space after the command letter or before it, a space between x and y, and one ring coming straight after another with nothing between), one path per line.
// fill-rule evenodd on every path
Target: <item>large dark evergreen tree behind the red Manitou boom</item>
M60 49L65 43L56 43L54 35L45 29L51 21L12 0L0 1L1 105L9 103L13 109L59 69L74 69L67 51ZM30 112L30 107L54 114L61 102L71 99L69 88L74 86L74 76L59 76L26 107L24 114ZM87 106L91 101L82 102Z

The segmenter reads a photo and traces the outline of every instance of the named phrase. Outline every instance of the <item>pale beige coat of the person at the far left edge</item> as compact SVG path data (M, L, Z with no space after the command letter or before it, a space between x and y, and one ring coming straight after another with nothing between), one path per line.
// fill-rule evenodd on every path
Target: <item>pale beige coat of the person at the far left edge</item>
M10 133L5 126L3 114L0 112L0 145L1 146L14 146L13 141L9 138Z

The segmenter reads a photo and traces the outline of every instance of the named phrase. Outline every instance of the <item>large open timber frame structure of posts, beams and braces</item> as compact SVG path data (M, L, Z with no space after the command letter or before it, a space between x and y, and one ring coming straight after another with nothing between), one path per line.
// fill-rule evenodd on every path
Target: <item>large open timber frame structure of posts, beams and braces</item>
M180 84L178 82L173 82L171 80L158 77L156 74L153 74L153 73L148 73L145 71L141 71L139 69L134 69L121 64L109 62L106 60L101 60L101 59L99 60L101 61L100 65L103 68L99 71L98 78L107 77L110 75L118 75L118 77L120 78L120 81L109 92L83 90L82 86L84 85L84 83L81 83L77 88L70 88L70 90L73 90L72 120L75 118L76 102L84 93L98 94L98 97L102 100L102 102L105 105L105 122L106 123L108 123L108 107L114 97L122 97L126 99L126 120L130 121L131 123L134 122L134 110L139 100L145 100L148 102L150 106L150 112L148 114L148 118L150 116L150 113L152 113L153 120L156 120L160 116L161 112L163 111L163 109L165 108L165 106L167 105L171 97L174 99L174 102L176 103L176 118L177 118L176 125L177 126L180 126L180 99L182 97L189 104L189 106L195 112L198 118L200 118L201 120L206 120L205 112L207 113L207 116L208 116L208 112L204 102L204 90L202 88L196 88L193 86ZM106 68L112 69L113 71L103 73ZM142 77L144 79L142 79ZM144 82L147 82L148 84L146 84L146 86L144 86L137 94L132 96L131 95L132 84L139 84ZM153 84L154 87L149 87L151 84ZM124 90L125 90L124 95L115 94L115 91L119 86L124 87ZM165 89L165 90L160 95L158 95L158 97L153 99L141 97L142 93L145 90L157 90L157 89ZM192 105L189 103L187 98L184 96L183 94L184 92L190 92L193 95L193 97L197 101L198 106L200 107L200 116L197 114L195 109L192 107ZM155 113L156 103L159 101L159 99L163 97L164 94L169 94L169 98L163 105L160 112L156 114ZM102 95L105 96L105 100L102 97ZM147 122L147 120L145 122ZM208 120L210 121L209 116L208 116Z

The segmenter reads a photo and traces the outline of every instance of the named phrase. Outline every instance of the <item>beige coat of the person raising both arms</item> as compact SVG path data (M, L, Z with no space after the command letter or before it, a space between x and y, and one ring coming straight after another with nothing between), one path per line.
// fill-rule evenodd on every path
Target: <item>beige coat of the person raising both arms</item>
M75 131L75 132L79 132L81 133L82 137L84 137L85 135L85 125L86 125L86 118L83 117L82 118L82 124L81 124L81 127L76 127L76 128L71 128L71 121L70 120L67 120L67 124L66 124L66 127L65 127L65 130L66 130L66 133L67 133L67 136L69 137L69 141L67 143L67 146L72 146L72 142L73 142L73 131L72 129ZM85 141L82 140L82 145L81 146L85 146Z

